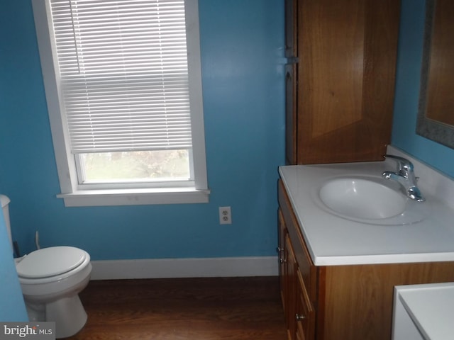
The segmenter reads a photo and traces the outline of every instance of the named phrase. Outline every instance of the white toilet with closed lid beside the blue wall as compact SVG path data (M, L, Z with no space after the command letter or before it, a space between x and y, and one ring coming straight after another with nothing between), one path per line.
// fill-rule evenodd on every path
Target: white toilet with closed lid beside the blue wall
M11 242L9 198L0 195ZM87 251L73 246L51 246L16 259L30 321L53 321L57 338L76 334L87 322L79 293L87 287L92 264Z

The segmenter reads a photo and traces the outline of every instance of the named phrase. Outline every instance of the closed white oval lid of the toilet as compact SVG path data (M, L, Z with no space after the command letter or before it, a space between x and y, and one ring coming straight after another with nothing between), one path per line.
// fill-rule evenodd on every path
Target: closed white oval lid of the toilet
M22 278L48 278L72 271L86 257L85 251L73 246L51 246L32 251L17 263L16 270Z

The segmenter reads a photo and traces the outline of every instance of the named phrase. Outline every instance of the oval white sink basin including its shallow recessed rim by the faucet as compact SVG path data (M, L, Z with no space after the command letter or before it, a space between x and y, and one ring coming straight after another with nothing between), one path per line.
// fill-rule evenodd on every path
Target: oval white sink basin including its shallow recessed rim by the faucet
M318 196L326 212L372 225L408 225L428 213L427 204L407 198L397 182L378 176L331 178Z

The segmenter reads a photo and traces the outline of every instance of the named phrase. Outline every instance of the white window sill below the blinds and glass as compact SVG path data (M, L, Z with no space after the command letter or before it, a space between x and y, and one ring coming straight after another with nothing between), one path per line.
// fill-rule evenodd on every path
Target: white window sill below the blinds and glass
M153 205L179 203L208 203L209 189L195 188L146 188L84 190L60 193L65 207L89 207L106 205Z

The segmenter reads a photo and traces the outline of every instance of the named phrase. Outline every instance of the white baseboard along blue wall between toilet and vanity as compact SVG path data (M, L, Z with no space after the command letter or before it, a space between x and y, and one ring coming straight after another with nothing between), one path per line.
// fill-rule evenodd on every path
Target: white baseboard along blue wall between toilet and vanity
M92 261L92 280L277 276L277 256Z

